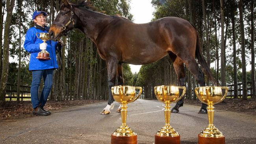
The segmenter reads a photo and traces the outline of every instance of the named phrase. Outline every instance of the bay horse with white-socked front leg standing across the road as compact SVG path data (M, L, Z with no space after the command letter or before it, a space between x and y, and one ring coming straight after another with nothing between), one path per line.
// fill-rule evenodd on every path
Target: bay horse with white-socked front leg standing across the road
M182 18L165 17L146 24L135 24L124 17L93 11L89 1L70 4L68 0L63 0L49 30L50 39L57 41L74 28L96 44L98 54L107 64L109 99L101 114L109 114L113 109L114 99L110 89L116 85L116 78L118 85L124 85L122 63L145 65L169 55L180 86L185 86L184 63L200 86L205 86L204 74L212 79L210 68L202 57L197 30ZM178 113L183 102L184 97L171 112ZM198 113L207 113L206 104L202 104Z

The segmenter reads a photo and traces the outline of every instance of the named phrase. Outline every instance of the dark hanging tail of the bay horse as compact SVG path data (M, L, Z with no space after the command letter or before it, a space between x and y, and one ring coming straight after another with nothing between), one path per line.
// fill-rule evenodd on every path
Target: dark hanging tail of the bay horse
M200 41L199 41L198 33L197 33L197 46L196 46L195 56L197 58L198 63L201 65L204 74L206 74L208 80L213 81L213 76L211 74L210 67L208 66L204 57L202 56L202 50L201 50L201 47L200 47Z

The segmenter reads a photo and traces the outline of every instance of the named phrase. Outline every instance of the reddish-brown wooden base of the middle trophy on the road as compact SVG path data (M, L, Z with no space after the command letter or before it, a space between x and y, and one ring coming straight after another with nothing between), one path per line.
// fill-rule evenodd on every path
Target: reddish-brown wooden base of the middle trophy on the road
M180 135L178 137L161 137L155 135L155 144L180 144Z

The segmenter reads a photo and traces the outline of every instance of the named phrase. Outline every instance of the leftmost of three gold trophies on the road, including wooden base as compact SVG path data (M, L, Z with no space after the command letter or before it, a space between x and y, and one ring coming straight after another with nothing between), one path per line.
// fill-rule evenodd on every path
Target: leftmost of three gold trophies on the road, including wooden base
M137 144L137 134L126 125L127 103L134 102L142 92L141 87L115 86L111 88L115 101L121 103L122 125L111 135L111 144Z

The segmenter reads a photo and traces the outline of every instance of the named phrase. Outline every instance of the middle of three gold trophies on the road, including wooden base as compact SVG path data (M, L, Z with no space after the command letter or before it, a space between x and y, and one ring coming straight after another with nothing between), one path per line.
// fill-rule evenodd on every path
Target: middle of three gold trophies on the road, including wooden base
M185 91L186 87L165 85L154 87L156 98L165 103L165 126L155 134L155 144L180 144L180 135L170 126L170 104L179 101Z

